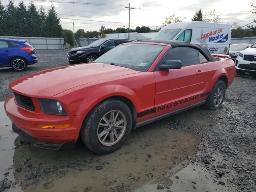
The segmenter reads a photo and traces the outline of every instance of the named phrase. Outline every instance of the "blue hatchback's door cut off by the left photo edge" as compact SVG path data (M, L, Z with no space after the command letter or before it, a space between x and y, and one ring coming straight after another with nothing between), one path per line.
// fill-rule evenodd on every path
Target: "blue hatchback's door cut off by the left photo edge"
M9 66L13 48L8 41L0 40L0 66Z

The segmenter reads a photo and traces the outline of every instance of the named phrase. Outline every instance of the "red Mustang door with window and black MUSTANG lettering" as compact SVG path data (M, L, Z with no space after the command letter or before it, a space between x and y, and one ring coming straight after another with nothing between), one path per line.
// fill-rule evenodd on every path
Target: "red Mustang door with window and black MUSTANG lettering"
M182 68L160 70L159 66L167 60L180 60ZM156 115L200 102L200 94L207 82L204 71L198 50L189 47L171 48L154 70Z

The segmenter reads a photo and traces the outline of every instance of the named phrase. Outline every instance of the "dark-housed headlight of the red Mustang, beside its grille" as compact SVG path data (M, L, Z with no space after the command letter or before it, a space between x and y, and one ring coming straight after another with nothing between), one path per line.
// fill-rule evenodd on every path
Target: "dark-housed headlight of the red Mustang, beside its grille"
M66 110L58 100L38 98L38 102L42 112L45 114L67 116Z

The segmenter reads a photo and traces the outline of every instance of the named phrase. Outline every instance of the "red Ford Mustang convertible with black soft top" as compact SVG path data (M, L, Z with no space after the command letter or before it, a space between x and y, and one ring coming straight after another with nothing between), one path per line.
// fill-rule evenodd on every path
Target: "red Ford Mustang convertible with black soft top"
M10 83L12 128L34 146L120 148L131 130L204 105L220 108L234 80L229 56L186 42L121 44L96 63L64 66Z

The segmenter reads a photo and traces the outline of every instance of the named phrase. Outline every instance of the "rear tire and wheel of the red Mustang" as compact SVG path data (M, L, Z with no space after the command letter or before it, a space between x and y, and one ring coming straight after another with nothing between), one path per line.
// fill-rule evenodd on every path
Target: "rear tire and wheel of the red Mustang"
M210 92L204 107L210 110L218 109L222 106L226 94L226 85L222 80L217 80Z

